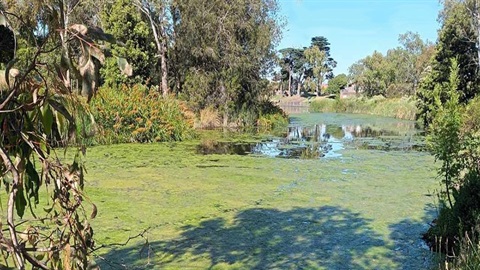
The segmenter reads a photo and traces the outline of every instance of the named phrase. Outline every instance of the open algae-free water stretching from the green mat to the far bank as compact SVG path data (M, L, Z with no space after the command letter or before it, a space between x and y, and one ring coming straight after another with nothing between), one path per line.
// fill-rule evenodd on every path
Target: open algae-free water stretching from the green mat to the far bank
M261 155L277 158L341 158L345 149L424 150L423 132L415 122L369 115L296 114L283 136L257 143L212 142L200 154Z

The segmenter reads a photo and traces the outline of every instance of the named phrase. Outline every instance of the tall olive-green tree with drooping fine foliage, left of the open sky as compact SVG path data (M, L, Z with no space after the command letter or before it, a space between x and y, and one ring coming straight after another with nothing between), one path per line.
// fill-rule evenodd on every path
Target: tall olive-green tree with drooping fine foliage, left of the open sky
M236 114L258 102L279 40L273 0L173 1L175 92L200 109Z

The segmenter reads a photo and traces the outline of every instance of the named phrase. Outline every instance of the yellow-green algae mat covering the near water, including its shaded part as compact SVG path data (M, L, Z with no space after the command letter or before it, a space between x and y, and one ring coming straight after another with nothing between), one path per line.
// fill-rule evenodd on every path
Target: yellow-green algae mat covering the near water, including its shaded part
M102 269L425 269L433 158L196 155L191 143L94 147ZM148 239L146 243L145 239Z

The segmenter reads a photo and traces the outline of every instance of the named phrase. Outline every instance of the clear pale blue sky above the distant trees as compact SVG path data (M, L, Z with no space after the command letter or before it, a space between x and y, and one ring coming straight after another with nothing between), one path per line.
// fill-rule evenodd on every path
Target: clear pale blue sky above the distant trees
M314 36L324 36L338 62L334 73L373 53L399 46L398 36L417 32L437 39L438 0L279 0L287 20L278 48L308 47Z

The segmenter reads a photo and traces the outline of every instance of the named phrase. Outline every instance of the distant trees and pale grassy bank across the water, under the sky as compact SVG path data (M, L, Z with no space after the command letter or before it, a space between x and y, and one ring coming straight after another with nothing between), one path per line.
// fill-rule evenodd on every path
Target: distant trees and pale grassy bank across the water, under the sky
M273 84L287 96L328 96L310 103L312 112L375 114L415 120L416 93L427 75L435 46L417 33L399 36L400 46L385 55L375 51L358 60L349 74L333 74L335 60L325 37L313 37L310 47L280 50L280 72ZM316 50L321 53L315 54ZM328 80L328 85L324 83ZM345 96L345 91L349 93ZM335 99L330 99L335 96ZM352 98L356 96L356 98Z

